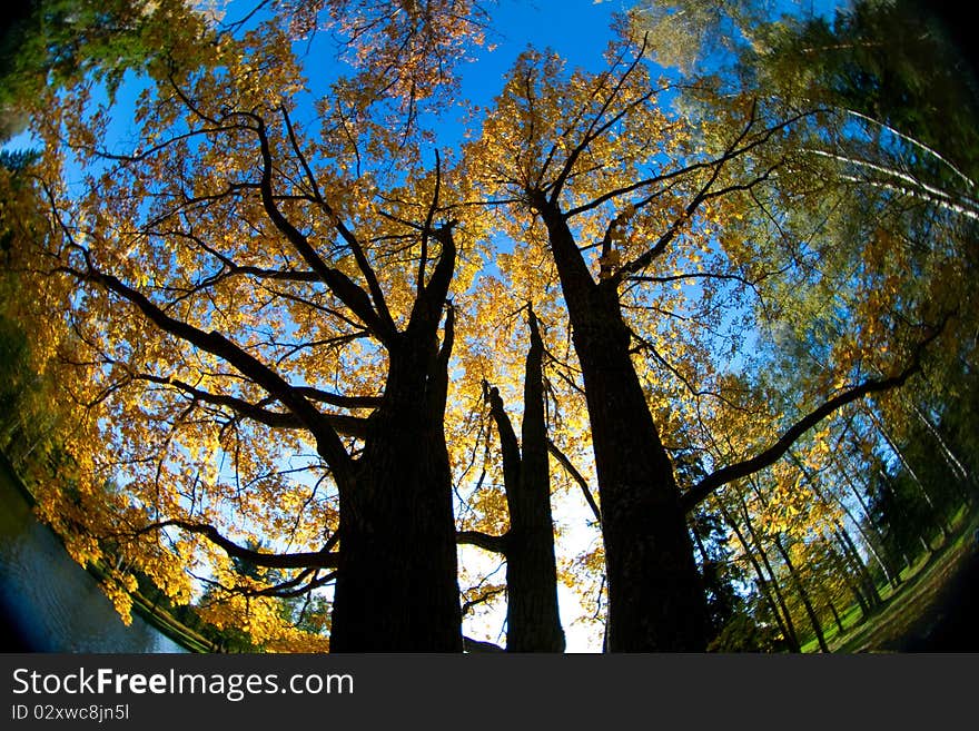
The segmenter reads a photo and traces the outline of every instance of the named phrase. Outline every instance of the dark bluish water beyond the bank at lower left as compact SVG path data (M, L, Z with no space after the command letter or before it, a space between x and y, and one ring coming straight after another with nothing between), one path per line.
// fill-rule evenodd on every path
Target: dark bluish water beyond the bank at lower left
M0 466L0 651L187 652L142 618L126 626Z

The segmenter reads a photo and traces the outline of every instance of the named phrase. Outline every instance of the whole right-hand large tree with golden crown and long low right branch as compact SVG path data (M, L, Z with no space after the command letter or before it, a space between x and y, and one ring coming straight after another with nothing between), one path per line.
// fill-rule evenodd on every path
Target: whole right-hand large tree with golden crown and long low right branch
M706 140L696 157L684 140L683 124L656 109L655 99L666 87L649 79L642 66L645 51L643 42L634 47L623 42L611 51L610 70L593 76L565 73L560 60L527 55L512 72L495 116L484 126L481 171L496 190L505 191L498 197L518 211L511 235L522 235L531 240L530 246L548 250L560 278L595 450L611 648L696 649L703 642L703 600L685 512L722 485L772 464L833 411L903 384L919 366L918 356L906 352L903 364L897 360L887 366L892 375L858 376L848 385L852 374L847 374L842 384L847 387L834 395L815 396L815 407L802 411L781 434L768 436L770 444L754 455L750 450L744 455L739 444L742 456L738 461L718 465L681 500L634 360L636 352L655 357L663 335L675 330L668 330L652 314L642 319L632 313L626 317L624 312L645 309L669 319L670 305L681 308L694 335L686 336L688 349L680 350L680 357L688 360L673 366L673 375L682 379L684 368L696 373L689 360L698 357L694 348L710 347L704 330L723 317L716 313L724 304L740 307L735 305L739 295L719 304L716 290L706 292L700 303L691 304L691 298L672 295L669 285L734 281L743 296L760 290L761 279L775 279L770 274L746 273L752 257L745 244L722 237L719 250L710 231L729 213L725 204L779 189L770 180L775 174L785 175L787 159L792 159L785 157L787 150L798 144L794 129L804 128L803 122L817 111L772 120L756 102L748 101L740 109L728 105L719 137ZM732 131L739 116L736 131ZM657 166L659 160L666 162ZM730 215L736 218L739 214L730 209ZM517 227L523 227L520 234ZM764 240L752 241L748 248L755 246L754 253L762 257L755 260L764 261L774 274L795 268L793 254ZM591 261L589 251L596 251ZM787 254L789 258L781 258ZM848 249L848 256L854 255ZM712 268L699 267L706 257ZM778 278L797 287L799 280ZM700 328L703 339L698 343ZM911 342L906 348L913 352L937 336L927 330L917 336L917 345ZM656 365L671 367L669 362L665 368ZM843 373L847 369L843 364ZM719 384L701 393L716 394L722 387ZM696 394L698 388L691 391ZM743 443L743 436L739 441ZM724 461L729 458L725 455ZM656 595L664 586L672 590L669 599Z

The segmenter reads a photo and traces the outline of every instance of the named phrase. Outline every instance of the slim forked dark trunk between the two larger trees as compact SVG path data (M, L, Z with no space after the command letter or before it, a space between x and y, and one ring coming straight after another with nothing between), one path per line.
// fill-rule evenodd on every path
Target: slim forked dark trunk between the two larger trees
M557 611L557 564L551 516L551 473L544 421L542 377L544 343L528 312L531 348L524 377L522 445L496 388L486 389L503 447L503 473L510 531L506 555L507 652L563 652L564 630Z

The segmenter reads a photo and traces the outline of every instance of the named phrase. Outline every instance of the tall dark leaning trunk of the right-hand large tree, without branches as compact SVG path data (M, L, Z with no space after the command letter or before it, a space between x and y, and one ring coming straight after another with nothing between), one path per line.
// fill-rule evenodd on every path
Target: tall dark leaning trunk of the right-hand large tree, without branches
M706 602L673 467L630 357L611 280L595 283L564 215L534 201L573 327L584 377L609 580L612 652L698 652Z

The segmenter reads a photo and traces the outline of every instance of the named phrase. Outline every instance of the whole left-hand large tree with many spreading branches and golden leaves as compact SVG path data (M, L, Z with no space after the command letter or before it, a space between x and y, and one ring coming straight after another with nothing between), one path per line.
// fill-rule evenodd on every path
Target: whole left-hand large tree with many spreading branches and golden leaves
M443 433L457 246L438 156L428 174L382 194L357 181L354 162L379 135L315 144L293 122L280 95L298 88L297 69L274 24L241 41L181 40L140 102L144 149L106 151L98 118L78 116L85 87L39 120L48 146L38 185L53 228L17 241L18 266L55 300L75 292L76 304L39 303L22 316L43 316L46 305L70 313L55 353L85 414L70 443L83 478L118 471L134 500L116 506L121 516L102 506L107 522L92 515L89 529L154 579L174 553L192 561L199 537L214 544L201 551L288 571L283 590L323 586L336 571L335 651L458 650ZM212 56L197 67L201 48ZM329 124L344 129L344 111ZM86 199L57 182L60 145L89 156ZM416 150L399 149L404 171ZM414 266L397 264L412 248ZM68 289L52 293L52 280ZM350 379L349 358L369 359ZM335 378L353 394L335 393ZM369 419L357 415L365 408ZM113 446L86 453L91 439ZM274 450L308 464L277 464ZM299 488L285 488L288 475L315 470L336 492L310 483L306 513L294 515L300 505L278 502ZM63 522L58 495L48 501ZM225 535L251 522L269 526L277 551ZM243 591L255 604L268 593Z

